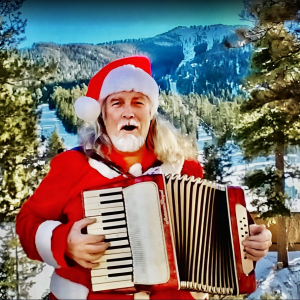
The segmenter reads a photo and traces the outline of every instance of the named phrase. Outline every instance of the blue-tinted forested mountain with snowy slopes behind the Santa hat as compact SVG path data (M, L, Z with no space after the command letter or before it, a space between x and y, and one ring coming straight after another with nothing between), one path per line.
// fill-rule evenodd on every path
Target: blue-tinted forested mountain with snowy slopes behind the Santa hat
M98 45L38 43L22 51L30 59L57 63L56 82L62 85L88 83L109 61L140 54L151 59L153 77L162 90L215 95L228 90L234 94L248 72L251 49L227 49L224 40L236 41L235 30L239 27L242 26L179 26L145 39Z

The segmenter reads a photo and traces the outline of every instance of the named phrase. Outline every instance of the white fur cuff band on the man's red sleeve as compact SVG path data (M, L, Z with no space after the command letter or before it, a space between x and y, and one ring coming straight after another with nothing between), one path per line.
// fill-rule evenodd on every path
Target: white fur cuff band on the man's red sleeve
M53 257L51 238L53 230L60 224L61 222L59 221L45 221L39 226L35 235L35 245L39 255L45 263L54 268L59 268L60 266Z

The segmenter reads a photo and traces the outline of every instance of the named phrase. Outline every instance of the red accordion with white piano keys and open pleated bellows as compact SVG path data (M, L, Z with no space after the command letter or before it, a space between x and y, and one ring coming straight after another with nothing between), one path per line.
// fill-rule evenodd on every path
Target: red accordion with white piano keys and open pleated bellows
M110 247L91 270L93 291L256 289L242 241L253 223L241 188L186 175L150 175L82 193L88 234Z

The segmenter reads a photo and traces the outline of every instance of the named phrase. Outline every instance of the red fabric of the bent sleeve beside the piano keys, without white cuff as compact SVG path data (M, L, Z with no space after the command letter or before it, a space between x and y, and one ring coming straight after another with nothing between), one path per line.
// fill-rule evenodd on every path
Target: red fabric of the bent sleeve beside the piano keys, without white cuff
M17 215L16 231L27 256L42 261L35 237L39 226L47 221L63 221L63 208L71 188L80 180L83 169L87 167L84 155L77 151L63 152L51 161L50 171L42 180L34 194L22 205ZM64 259L66 237L73 223L61 224L53 230L51 250L60 266L66 266ZM54 242L54 243L53 243Z

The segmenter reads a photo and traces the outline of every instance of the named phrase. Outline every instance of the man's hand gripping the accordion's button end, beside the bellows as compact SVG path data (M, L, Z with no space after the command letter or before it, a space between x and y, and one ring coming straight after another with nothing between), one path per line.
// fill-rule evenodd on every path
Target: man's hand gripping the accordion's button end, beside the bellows
M242 243L245 256L258 261L267 255L272 245L272 234L265 225L250 225L250 236Z

